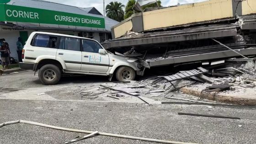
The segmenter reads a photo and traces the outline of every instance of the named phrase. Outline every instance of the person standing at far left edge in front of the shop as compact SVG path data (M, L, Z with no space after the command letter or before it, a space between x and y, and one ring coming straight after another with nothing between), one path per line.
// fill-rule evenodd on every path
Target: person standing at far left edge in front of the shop
M2 66L3 70L9 68L10 60L9 60L9 53L8 53L8 43L5 43L5 39L1 39L2 45L0 47L1 52L1 60L2 60Z

